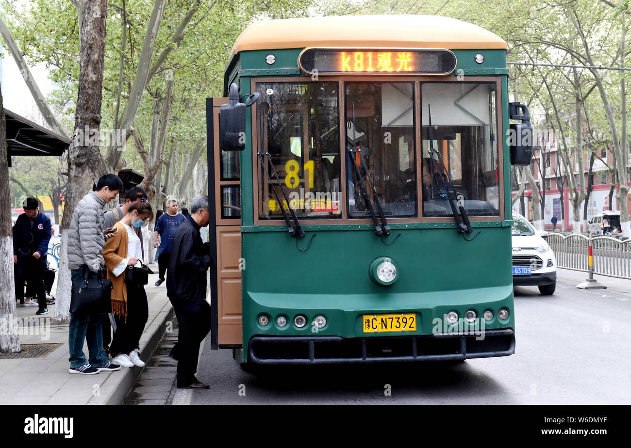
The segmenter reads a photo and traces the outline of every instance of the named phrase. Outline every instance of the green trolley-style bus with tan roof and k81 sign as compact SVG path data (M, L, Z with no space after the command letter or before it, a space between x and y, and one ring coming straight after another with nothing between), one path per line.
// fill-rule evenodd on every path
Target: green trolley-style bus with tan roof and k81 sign
M440 16L245 29L225 98L206 101L211 348L255 364L514 353L509 167L532 149L506 54Z

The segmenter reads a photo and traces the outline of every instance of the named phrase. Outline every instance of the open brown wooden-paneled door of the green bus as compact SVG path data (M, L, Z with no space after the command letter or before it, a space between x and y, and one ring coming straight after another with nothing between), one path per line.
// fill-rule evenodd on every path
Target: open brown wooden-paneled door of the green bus
M213 350L242 345L240 153L219 148L219 110L226 103L228 98L206 98Z

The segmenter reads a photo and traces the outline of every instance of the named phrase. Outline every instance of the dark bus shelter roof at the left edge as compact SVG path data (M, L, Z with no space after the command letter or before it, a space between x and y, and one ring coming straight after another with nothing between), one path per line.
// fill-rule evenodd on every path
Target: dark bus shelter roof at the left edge
M11 156L61 156L70 139L4 109L9 166Z

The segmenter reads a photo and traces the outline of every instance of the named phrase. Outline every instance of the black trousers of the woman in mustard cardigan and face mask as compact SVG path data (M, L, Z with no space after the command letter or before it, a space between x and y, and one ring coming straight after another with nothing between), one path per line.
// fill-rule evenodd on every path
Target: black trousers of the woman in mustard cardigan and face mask
M138 348L140 336L143 335L144 325L149 318L147 295L143 285L126 285L127 287L127 319L115 316L116 331L110 353L130 353Z

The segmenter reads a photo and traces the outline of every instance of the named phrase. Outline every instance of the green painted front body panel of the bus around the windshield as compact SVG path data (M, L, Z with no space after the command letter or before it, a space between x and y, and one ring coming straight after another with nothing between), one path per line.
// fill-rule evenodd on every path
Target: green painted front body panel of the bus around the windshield
M251 81L256 77L303 76L298 69L298 55L303 49L256 50L233 55L226 67L224 95L235 82L240 94L251 93ZM502 135L509 129L508 70L506 50L452 50L457 58L451 76L499 76L501 80ZM485 60L476 64L475 55ZM276 56L268 65L265 57ZM437 81L440 76L435 77ZM319 80L326 79L320 76ZM483 321L482 313L491 309L493 319L484 322L484 329L514 329L512 289L510 196L510 149L504 145L504 214L505 221L473 222L477 233L473 241L464 241L456 232L451 218L440 223L397 224L391 220L392 234L384 244L366 224L324 224L304 226L305 238L291 238L285 226L254 226L251 108L246 112L247 141L240 153L242 210L242 271L243 350L237 355L247 361L247 344L252 336L312 336L315 315L327 318L321 336L346 338L371 336L430 335L445 332L444 315L457 311L464 317L473 309ZM211 186L212 188L212 186ZM307 247L307 251L299 251ZM394 258L399 265L399 279L384 287L369 277L369 265L377 256ZM500 308L509 309L509 319L499 321ZM260 314L268 314L270 323L262 327ZM363 333L363 314L416 313L416 331ZM280 328L276 317L286 316L287 324ZM293 318L307 317L304 328L296 328ZM440 325L437 327L440 319ZM463 325L461 322L458 325ZM480 323L464 324L464 330L480 328ZM463 330L460 328L459 330Z

